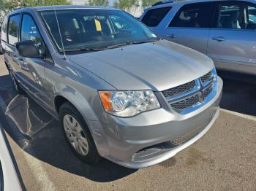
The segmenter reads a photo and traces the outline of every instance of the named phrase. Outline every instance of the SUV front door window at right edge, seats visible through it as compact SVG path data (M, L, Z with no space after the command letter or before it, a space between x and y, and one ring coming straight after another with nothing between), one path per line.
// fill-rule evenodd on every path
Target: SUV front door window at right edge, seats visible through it
M246 2L221 4L217 28L256 29L256 6Z

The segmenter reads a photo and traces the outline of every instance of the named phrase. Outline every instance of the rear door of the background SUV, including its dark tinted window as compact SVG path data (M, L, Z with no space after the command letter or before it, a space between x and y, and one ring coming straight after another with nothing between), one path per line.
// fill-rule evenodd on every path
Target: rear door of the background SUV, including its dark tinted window
M213 16L214 3L186 4L178 10L162 35L167 40L206 54Z

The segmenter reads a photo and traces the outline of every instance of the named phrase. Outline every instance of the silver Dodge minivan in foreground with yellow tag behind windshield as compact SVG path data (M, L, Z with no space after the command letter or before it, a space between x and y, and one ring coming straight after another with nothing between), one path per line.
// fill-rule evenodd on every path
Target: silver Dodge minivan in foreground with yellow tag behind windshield
M15 89L60 121L86 163L160 163L200 139L219 114L213 61L118 9L18 9L5 17L1 43Z

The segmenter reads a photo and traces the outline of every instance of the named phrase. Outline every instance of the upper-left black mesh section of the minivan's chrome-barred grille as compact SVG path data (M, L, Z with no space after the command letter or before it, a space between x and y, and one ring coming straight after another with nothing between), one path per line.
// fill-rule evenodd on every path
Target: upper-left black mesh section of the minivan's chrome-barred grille
M188 82L184 85L179 85L177 87L170 88L169 90L164 90L162 93L165 95L165 98L172 97L175 95L180 95L182 93L187 93L189 90L192 90L195 87L195 80Z

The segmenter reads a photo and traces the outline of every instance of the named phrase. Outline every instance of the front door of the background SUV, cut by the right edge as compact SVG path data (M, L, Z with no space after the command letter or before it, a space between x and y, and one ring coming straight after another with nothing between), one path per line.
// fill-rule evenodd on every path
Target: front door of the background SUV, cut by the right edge
M256 4L226 1L218 7L208 56L217 69L256 74Z

